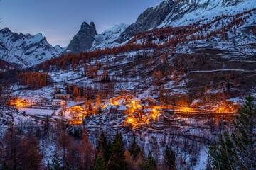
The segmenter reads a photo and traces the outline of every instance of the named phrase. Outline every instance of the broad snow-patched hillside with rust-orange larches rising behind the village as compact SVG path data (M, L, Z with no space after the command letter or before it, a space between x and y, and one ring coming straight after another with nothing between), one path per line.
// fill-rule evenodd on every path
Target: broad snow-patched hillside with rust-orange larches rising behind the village
M178 106L229 106L255 91L255 14L145 31L125 45L63 55L41 68L58 84L102 91L110 77L114 94L126 89Z

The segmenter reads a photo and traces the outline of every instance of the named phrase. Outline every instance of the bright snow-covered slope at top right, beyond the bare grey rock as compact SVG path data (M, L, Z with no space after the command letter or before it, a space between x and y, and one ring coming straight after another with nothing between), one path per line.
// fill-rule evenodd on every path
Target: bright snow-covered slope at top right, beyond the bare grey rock
M169 1L166 3L171 4ZM160 6L154 6L159 8ZM255 0L189 0L181 3L181 6L172 6L178 9L176 13L171 12L158 28L165 26L186 26L201 20L209 20L216 16L235 15L241 11L256 8Z

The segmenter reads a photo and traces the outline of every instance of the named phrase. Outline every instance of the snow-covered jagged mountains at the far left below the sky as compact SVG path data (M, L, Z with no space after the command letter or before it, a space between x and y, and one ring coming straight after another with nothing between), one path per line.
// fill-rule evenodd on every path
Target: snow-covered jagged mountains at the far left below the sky
M13 33L9 28L0 30L0 57L10 64L33 67L60 54L63 50L65 49L58 45L50 45L41 33L24 35Z

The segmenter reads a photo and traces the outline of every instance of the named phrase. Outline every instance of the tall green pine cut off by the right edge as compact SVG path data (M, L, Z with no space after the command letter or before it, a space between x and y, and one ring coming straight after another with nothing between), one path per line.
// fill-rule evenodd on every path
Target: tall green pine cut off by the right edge
M256 169L256 105L252 96L246 97L244 106L238 109L239 116L233 120L235 133L232 138L238 154L240 169Z

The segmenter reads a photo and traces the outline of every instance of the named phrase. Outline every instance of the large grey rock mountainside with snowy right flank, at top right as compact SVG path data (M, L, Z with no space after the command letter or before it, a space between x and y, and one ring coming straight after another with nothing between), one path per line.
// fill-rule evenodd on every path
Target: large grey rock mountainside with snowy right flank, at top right
M202 18L220 16L255 8L255 0L166 0L144 11L137 21L119 36L117 42L124 42L135 33L164 26L181 26Z

